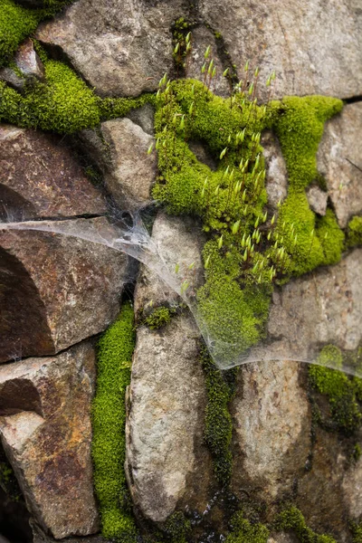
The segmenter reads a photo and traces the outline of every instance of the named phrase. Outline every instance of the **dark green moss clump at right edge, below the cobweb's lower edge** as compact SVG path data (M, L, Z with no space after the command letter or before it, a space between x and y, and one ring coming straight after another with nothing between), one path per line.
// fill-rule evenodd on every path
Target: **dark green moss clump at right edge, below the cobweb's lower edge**
M338 369L323 367L342 367L342 353L333 345L321 350L317 362L321 366L309 367L311 386L327 397L330 417L337 429L348 434L355 432L362 422L362 380L348 377Z

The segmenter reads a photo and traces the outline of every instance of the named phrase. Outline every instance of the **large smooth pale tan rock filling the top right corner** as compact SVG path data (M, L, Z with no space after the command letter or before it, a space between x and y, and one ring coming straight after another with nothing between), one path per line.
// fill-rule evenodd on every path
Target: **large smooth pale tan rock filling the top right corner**
M348 98L362 94L360 65L362 19L357 2L271 0L201 0L205 24L223 35L233 62L250 59L261 67L259 94L267 100L265 81L277 72L274 98L297 94L323 94ZM243 70L239 71L243 77Z

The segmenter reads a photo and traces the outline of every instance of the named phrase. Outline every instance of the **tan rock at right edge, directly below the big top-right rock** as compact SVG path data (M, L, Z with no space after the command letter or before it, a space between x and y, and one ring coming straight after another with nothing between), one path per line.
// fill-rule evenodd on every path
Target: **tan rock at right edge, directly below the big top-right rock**
M362 102L348 104L325 126L317 155L330 199L342 228L362 212Z

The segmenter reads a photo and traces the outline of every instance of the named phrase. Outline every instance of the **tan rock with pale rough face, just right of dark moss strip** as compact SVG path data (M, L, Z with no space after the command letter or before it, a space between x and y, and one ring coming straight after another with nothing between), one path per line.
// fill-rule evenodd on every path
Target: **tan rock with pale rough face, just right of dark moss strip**
M310 452L310 405L296 362L243 366L231 406L232 490L272 503L293 489Z

